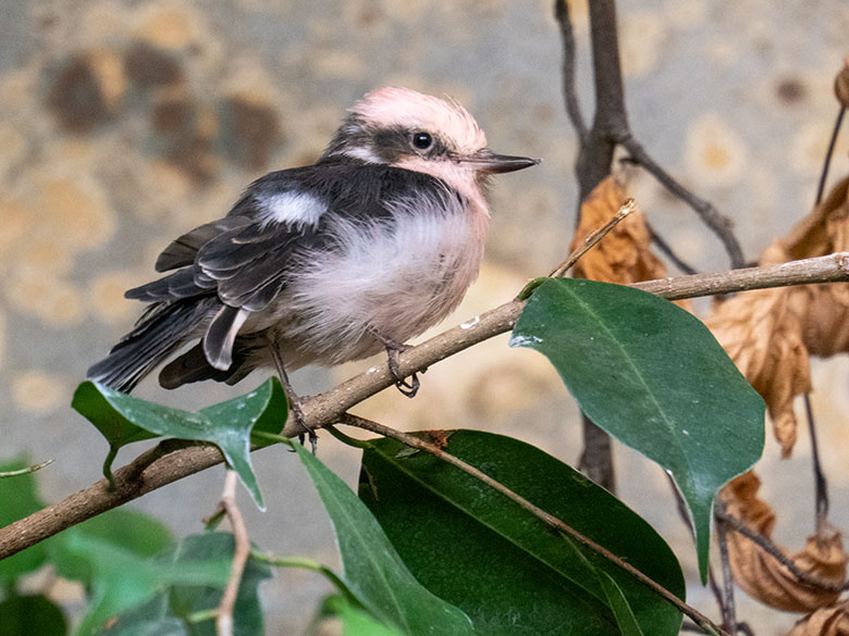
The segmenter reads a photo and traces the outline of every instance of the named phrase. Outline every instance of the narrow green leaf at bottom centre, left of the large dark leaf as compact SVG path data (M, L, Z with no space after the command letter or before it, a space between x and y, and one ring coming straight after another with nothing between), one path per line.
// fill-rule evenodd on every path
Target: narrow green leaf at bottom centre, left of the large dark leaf
M472 634L471 624L460 610L414 578L380 524L350 488L302 445L294 448L333 523L345 583L372 616L407 636Z

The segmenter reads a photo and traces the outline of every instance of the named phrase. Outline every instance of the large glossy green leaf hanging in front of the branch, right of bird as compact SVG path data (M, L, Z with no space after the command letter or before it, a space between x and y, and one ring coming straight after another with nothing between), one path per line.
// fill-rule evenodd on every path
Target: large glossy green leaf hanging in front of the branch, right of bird
M651 294L557 278L528 300L510 345L543 353L590 420L672 473L704 582L713 498L764 437L763 400L707 328Z

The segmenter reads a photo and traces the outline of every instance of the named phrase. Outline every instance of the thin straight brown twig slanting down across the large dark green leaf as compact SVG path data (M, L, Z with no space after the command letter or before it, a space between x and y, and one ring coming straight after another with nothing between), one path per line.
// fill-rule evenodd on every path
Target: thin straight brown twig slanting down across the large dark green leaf
M372 422L371 420L366 420L365 417L359 417L350 413L345 413L344 415L342 415L340 417L340 422L343 424L348 424L350 426L356 426L357 428L370 431L371 433L377 433L378 435L382 435L383 437L391 437L393 439L397 439L398 441L405 444L406 446L409 446L410 448L416 448L418 450L423 450L426 452L429 452L435 458L439 458L440 460L450 463L451 465L459 469L460 471L471 475L476 479L483 482L490 488L497 490L499 492L507 497L510 501L517 503L524 510L526 510L537 519L541 520L546 525L551 526L552 528L558 532L568 535L579 544L586 546L593 552L601 554L604 559L611 561L612 563L615 563L622 570L625 570L628 574L630 574L637 581L639 581L640 583L649 587L656 595L662 597L667 602L672 603L679 612L692 619L697 624L703 627L710 627L712 629L715 629L718 634L722 634L723 636L729 636L726 632L723 632L717 625L715 625L707 616L703 615L694 608L691 608L690 606L685 603L681 599L679 599L668 589L663 587L660 583L650 578L649 576L647 576L645 574L637 570L633 565L627 563L626 561L623 561L619 557L611 552L604 546L596 544L588 536L579 533L574 527L564 523L553 514L550 514L549 512L545 512L541 508L534 506L533 503L525 499L521 495L510 490L501 482L493 479L487 473L483 473L482 471L476 469L471 464L466 463L462 459L448 452L445 452L443 449L439 448L438 446L430 444L429 441L426 441L419 437L409 435L408 433L402 433L401 431L396 431L389 426L384 426L383 424L380 424L378 422Z

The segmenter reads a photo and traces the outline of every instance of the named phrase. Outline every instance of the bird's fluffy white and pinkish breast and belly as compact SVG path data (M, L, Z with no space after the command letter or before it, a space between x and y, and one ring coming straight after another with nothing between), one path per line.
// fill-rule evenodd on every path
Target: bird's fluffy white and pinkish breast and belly
M392 220L337 220L336 249L302 263L281 298L282 339L335 364L382 349L369 329L405 342L443 320L478 276L487 217L450 195L440 203L445 213L416 199Z

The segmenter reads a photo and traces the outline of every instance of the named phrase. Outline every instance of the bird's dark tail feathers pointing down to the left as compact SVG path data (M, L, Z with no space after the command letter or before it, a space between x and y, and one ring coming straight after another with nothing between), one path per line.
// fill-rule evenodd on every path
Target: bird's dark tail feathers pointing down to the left
M89 379L130 392L158 364L180 349L214 311L214 298L155 302L103 360L91 366Z

